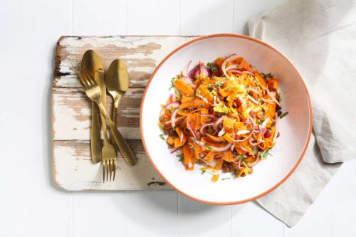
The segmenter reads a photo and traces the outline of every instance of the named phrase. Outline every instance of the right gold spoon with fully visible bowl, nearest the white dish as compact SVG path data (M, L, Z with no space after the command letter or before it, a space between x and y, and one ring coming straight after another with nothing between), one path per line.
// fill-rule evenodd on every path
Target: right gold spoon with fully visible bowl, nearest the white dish
M121 59L115 59L110 64L108 72L105 77L106 90L114 99L114 108L112 110L112 122L117 127L117 107L122 95L125 94L129 88L129 73L126 65ZM113 137L110 137L111 143L115 144Z

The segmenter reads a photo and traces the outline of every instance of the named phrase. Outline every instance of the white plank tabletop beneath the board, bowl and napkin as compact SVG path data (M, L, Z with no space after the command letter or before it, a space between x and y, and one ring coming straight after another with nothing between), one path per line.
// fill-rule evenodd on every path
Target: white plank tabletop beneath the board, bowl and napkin
M59 36L245 33L249 17L281 1L0 0L0 236L356 236L356 160L293 228L255 203L209 206L176 191L66 192L53 184Z

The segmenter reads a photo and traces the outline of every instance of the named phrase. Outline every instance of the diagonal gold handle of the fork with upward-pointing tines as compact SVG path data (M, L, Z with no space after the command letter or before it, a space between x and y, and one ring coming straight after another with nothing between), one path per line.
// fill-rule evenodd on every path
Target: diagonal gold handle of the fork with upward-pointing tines
M122 157L124 157L124 159L125 159L125 161L126 161L126 163L128 165L130 165L130 166L135 165L136 162L137 162L137 159L135 157L135 154L132 152L131 147L129 146L129 144L127 144L125 138L122 137L122 135L119 132L119 130L117 130L117 128L115 127L115 125L112 122L112 120L110 119L108 113L105 111L104 105L101 102L98 103L98 105L99 105L99 109L100 109L101 113L106 118L106 122L108 122L108 125L109 125L110 130L111 130L111 134L115 139L117 147L119 147L119 149L120 149Z

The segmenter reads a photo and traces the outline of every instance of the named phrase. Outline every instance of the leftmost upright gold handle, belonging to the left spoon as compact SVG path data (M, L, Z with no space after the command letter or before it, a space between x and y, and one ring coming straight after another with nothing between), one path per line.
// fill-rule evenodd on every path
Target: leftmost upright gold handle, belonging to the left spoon
M101 160L101 139L100 139L100 127L98 120L98 105L92 102L92 114L91 114L91 130L90 130L90 150L91 159L94 163L98 163Z

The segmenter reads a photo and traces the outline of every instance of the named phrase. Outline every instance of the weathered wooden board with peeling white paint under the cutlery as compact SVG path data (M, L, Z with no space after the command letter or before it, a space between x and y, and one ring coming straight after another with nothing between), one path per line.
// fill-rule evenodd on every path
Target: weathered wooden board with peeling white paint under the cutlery
M71 191L172 189L157 174L145 154L140 137L140 104L145 85L159 62L194 38L197 37L59 38L52 84L53 178L58 186ZM98 52L105 70L112 60L121 58L130 75L130 88L120 100L117 124L138 162L135 167L128 167L119 153L115 181L107 183L103 183L101 163L94 164L90 157L91 102L78 81L80 60L88 49ZM108 96L108 111L111 105L112 99Z

